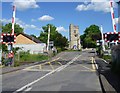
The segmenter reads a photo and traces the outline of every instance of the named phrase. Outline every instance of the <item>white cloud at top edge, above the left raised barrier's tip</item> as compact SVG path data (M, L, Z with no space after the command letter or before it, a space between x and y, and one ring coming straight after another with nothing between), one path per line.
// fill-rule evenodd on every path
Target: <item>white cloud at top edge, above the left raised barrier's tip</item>
M38 8L35 0L14 0L13 5L16 6L17 10L27 10L29 8Z

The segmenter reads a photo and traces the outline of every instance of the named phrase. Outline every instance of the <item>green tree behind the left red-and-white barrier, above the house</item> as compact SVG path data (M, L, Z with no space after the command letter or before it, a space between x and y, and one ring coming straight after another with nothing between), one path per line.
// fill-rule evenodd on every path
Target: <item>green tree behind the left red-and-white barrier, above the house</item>
M18 24L15 24L14 26L14 33L18 35L19 33L23 33L23 28L20 27ZM2 32L3 33L11 33L12 32L12 23L8 23L5 26L2 26Z

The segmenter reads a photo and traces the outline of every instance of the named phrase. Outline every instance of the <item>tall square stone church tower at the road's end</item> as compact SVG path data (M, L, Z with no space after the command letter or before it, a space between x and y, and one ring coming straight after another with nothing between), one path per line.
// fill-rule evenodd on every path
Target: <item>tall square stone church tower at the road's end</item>
M69 48L74 50L81 49L79 27L70 24L69 35L70 35Z

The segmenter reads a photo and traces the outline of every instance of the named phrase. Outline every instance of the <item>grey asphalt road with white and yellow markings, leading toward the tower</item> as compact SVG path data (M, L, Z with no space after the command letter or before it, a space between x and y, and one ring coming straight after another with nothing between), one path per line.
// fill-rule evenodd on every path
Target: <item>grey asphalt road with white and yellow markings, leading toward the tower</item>
M102 91L90 51L62 52L48 63L3 75L2 90Z

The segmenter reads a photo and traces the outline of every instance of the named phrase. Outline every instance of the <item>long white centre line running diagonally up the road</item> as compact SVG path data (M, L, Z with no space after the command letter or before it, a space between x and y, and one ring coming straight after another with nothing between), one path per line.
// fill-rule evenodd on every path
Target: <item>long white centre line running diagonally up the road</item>
M66 67L69 66L71 63L73 63L73 62L74 62L77 58L79 58L80 56L81 56L81 55L75 57L73 60L71 60L70 62L68 62L66 65L60 66L59 68L57 68L57 69L55 69L55 70L53 70L53 71L51 71L51 72L45 74L44 76L42 76L42 77L40 77L40 78L34 80L34 81L31 82L31 83L28 83L27 85L21 87L20 89L16 90L16 91L13 92L13 93L18 93L19 91L23 91L24 89L30 87L31 85L37 83L38 81L44 79L45 77L47 77L47 76L53 74L54 72L56 72L56 71L58 71L58 70L61 71L62 69L66 68Z

